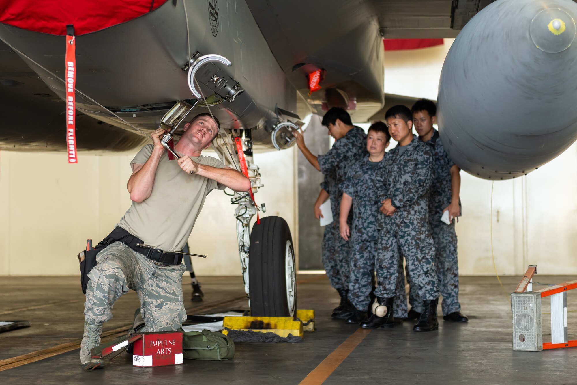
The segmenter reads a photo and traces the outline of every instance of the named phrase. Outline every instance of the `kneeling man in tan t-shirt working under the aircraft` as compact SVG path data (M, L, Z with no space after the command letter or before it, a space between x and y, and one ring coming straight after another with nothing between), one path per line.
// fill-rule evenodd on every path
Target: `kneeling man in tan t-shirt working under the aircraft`
M130 165L128 191L132 205L103 240L88 273L84 303L84 336L80 345L83 368L91 367L91 349L100 345L102 324L112 317L114 302L130 289L140 298L144 330L178 330L186 320L182 298L182 250L192 232L206 195L218 188L248 191L250 180L213 157L201 156L218 134L218 120L202 113L184 125L185 132L170 160L160 138L152 133ZM143 247L138 245L148 245ZM97 246L98 248L98 246ZM98 367L103 367L103 362Z

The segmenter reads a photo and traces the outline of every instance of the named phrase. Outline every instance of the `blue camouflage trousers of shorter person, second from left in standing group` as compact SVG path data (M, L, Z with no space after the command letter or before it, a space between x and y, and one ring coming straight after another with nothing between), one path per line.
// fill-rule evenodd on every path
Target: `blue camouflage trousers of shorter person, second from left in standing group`
M349 300L355 308L366 311L370 306L370 292L373 290L374 263L377 257L377 241L353 241L350 262ZM395 287L393 313L395 317L407 316L407 293L404 289L403 260Z

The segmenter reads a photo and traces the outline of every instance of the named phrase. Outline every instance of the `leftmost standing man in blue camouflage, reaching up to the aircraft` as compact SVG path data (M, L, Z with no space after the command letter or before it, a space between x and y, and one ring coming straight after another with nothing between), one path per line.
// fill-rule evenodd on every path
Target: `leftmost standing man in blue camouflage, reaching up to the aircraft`
M353 311L353 306L347 299L350 243L339 235L339 208L343 194L340 184L354 161L366 154L366 134L362 128L353 125L349 113L342 108L334 107L328 110L323 117L323 125L328 128L329 135L335 138L335 144L324 155L314 156L306 147L300 132L294 132L294 136L306 160L324 175L324 183L321 184L319 197L314 204L314 215L317 219L320 219L322 215L320 205L328 198L331 199L333 222L325 228L323 264L331 286L340 295L340 304L331 316L337 319L347 319Z

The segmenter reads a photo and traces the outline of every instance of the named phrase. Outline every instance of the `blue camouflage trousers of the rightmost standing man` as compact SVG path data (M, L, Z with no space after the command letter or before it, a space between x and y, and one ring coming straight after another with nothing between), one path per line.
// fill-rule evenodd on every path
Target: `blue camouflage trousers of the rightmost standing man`
M451 225L444 223L431 223L431 235L433 236L435 253L435 266L439 288L443 301L441 308L443 314L460 312L459 303L459 262L457 259L457 234L455 232L455 220ZM411 277L407 271L407 281L409 282L409 303L411 308L421 313L423 303L414 285L411 284Z

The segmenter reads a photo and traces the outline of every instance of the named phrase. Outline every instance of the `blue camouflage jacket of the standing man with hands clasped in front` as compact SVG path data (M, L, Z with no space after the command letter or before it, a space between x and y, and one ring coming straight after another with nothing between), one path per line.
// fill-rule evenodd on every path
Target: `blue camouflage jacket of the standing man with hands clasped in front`
M406 222L427 225L429 187L433 181L433 149L415 135L399 154L399 146L385 154L381 169L384 185L380 201L391 198L397 209L391 216L379 216L379 229Z

